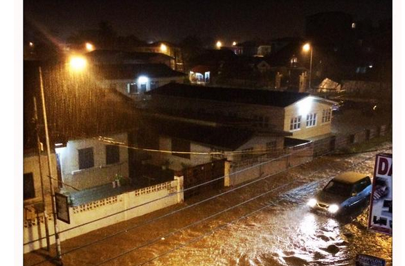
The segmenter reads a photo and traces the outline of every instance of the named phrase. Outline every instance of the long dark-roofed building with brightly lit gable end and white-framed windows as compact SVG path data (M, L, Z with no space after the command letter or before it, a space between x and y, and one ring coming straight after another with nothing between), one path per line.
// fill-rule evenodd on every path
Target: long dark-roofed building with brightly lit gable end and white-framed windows
M331 133L334 102L305 93L168 84L147 93L148 108L246 118L254 127L296 139Z

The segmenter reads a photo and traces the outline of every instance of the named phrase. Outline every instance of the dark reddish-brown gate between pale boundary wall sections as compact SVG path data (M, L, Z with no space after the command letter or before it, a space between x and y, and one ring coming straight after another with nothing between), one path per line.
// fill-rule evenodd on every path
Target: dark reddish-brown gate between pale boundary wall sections
M210 163L200 164L183 170L184 199L188 199L206 190L224 187L225 161L221 159ZM220 178L223 177L223 178ZM215 181L211 181L217 179ZM210 182L211 181L211 182ZM207 183L207 184L205 184ZM198 186L199 184L204 184ZM196 187L197 186L197 187ZM191 188L191 189L189 189Z

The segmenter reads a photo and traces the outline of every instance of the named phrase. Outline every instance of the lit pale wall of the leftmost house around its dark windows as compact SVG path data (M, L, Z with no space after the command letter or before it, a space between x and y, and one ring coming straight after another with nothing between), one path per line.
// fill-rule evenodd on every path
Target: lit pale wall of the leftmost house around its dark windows
M113 134L108 137L115 141L127 143L127 133ZM111 165L106 164L105 146L98 139L71 140L66 147L56 149L60 154L62 180L78 189L100 186L114 181L115 175L129 177L128 150L120 147L120 161ZM92 168L79 170L78 150L82 148L93 148L94 166ZM64 186L66 190L72 190Z

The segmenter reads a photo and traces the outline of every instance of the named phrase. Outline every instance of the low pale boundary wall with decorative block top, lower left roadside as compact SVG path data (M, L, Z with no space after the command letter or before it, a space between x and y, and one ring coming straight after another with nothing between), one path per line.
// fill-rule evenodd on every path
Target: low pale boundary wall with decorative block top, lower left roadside
M183 202L183 177L176 177L174 181L168 181L156 186L141 188L125 194L100 199L96 202L75 207L69 207L70 224L58 220L60 228L60 239L66 240L84 233L107 227L117 222L123 222L146 213L151 213L167 206ZM167 197L168 196L168 197ZM152 202L153 201L153 202ZM146 204L147 202L151 202ZM145 204L140 206L141 204ZM138 207L136 207L138 206ZM133 209L131 209L133 208ZM127 211L125 211L127 210ZM119 213L123 211L122 213ZM111 215L119 213L117 215ZM107 215L109 218L91 222ZM81 224L89 224L80 226ZM49 233L53 234L53 220L48 222ZM73 227L78 227L71 229ZM66 231L71 229L69 231ZM24 221L24 243L45 237L45 225L43 217ZM55 243L55 236L51 237L51 244ZM24 253L46 247L46 240L38 240L28 245L24 245Z

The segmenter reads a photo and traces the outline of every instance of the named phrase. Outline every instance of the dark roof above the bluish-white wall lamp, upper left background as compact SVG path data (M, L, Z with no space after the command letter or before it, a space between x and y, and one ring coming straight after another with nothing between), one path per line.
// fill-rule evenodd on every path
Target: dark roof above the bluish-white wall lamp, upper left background
M165 64L103 64L94 66L96 73L107 80L130 80L138 76L170 78L186 76Z

